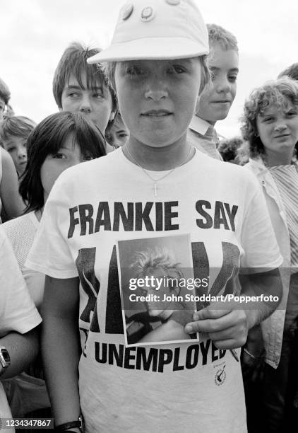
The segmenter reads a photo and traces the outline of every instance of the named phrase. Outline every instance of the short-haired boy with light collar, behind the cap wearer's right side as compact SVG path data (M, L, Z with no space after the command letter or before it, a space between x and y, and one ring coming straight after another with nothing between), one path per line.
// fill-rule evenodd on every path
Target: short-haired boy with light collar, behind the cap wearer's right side
M189 142L204 154L221 159L216 149L217 120L227 117L236 96L239 55L237 39L220 25L207 24L212 82L198 100L196 115L189 125Z

